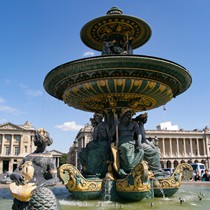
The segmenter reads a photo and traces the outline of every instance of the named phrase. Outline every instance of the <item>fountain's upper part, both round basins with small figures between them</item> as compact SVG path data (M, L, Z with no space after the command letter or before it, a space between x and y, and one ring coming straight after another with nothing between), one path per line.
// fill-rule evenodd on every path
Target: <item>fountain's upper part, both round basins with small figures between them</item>
M45 78L46 91L71 107L89 112L113 107L140 112L166 104L187 90L192 78L172 61L133 55L132 49L150 36L146 22L111 8L81 29L82 41L102 51L102 56L56 67Z

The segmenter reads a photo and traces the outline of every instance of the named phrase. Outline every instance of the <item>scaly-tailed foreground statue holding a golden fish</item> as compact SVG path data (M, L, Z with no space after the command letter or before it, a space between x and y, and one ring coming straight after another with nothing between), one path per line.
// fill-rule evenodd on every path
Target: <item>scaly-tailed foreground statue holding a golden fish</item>
M56 197L48 188L57 183L57 169L52 155L46 150L51 144L49 133L38 129L34 137L36 150L27 155L10 175L14 181L10 184L14 197L13 210L60 209Z

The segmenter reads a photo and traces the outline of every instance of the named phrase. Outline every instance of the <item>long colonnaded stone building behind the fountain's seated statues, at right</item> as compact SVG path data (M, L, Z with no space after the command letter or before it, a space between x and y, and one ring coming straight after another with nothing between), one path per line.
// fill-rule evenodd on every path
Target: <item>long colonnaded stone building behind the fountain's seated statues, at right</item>
M92 140L93 128L82 128L76 137L78 143L72 145L68 153L68 162L75 165L77 154ZM179 163L204 163L210 168L210 129L185 131L180 130L146 130L146 137L156 137L160 149L163 168L175 168ZM79 164L77 163L79 167Z

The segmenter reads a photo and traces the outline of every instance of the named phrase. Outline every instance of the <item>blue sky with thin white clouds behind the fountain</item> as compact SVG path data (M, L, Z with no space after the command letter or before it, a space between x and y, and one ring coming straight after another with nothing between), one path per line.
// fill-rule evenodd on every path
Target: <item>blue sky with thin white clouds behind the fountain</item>
M49 149L68 152L93 113L53 98L43 81L56 66L100 54L82 43L80 30L113 6L152 29L134 54L174 61L192 75L191 87L168 102L166 111L148 111L146 129L164 120L185 130L210 127L209 0L0 0L0 123L30 121L49 131Z

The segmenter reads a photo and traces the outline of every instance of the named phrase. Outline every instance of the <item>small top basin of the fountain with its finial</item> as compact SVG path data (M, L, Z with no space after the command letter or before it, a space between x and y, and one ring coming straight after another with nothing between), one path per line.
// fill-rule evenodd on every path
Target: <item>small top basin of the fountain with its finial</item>
M125 15L120 9L113 7L106 16L96 18L83 26L80 36L85 45L98 51L102 51L105 37L111 39L122 36L123 40L132 37L132 48L136 49L149 40L151 29L145 21Z

